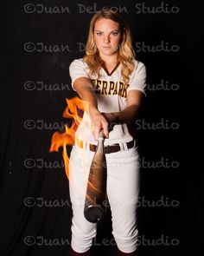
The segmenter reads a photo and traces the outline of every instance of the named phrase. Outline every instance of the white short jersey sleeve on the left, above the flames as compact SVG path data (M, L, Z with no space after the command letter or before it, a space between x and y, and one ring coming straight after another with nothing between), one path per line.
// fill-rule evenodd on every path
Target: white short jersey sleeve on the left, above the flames
M72 80L72 88L73 88L73 82L79 78L79 77L86 77L89 78L87 71L86 71L86 63L83 62L83 59L76 59L74 60L70 66L69 66L69 75L71 77ZM73 88L74 91L76 91Z

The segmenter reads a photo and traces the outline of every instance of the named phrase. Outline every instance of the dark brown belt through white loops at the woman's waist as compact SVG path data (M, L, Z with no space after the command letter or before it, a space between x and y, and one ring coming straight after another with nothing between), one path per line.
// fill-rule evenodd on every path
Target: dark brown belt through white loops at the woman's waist
M86 150L90 150L93 152L95 152L97 149L97 145L92 144L87 141L81 141L80 139L76 139L75 144L79 148L84 148ZM105 154L111 154L111 153L115 153L118 151L124 151L124 150L134 148L136 146L136 144L137 144L137 141L135 141L135 140L132 140L129 142L119 142L119 143L115 143L115 144L111 144L111 145L106 145L104 147L104 151L105 151Z

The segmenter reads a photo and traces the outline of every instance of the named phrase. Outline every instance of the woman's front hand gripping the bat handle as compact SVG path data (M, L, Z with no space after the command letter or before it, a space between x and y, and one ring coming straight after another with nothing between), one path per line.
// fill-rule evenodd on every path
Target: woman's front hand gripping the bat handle
M109 137L109 131L108 131L108 126L109 123L105 119L105 116L102 115L99 110L97 109L90 109L89 111L91 121L92 121L92 135L94 136L95 140L98 140L99 137L99 132L101 129L104 130L105 137L108 139Z

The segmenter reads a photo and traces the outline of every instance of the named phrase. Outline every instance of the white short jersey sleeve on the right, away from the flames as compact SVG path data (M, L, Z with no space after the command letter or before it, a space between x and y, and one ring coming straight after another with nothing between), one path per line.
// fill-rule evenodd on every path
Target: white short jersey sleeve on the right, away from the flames
M146 96L145 93L145 86L146 86L146 67L143 64L143 62L137 62L137 67L133 73L133 76L131 77L130 86L128 88L128 92L133 89L138 89L143 92L143 94Z

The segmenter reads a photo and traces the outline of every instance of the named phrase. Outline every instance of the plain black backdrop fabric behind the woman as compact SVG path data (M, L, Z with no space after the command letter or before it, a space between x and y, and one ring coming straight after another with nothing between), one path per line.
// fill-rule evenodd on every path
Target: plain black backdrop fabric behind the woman
M131 27L137 59L145 63L148 73L147 96L137 120L141 163L138 255L200 255L201 191L194 187L194 178L184 167L188 147L182 102L188 90L185 79L189 56L183 51L192 25L188 21L183 28L182 18L192 6L181 3L4 3L1 255L69 255L69 182L61 149L49 153L49 148L54 131L62 130L67 123L62 117L66 98L76 96L69 64L84 56L90 19L104 6L124 15ZM70 149L67 147L68 154ZM116 255L110 209L99 223L92 255Z

